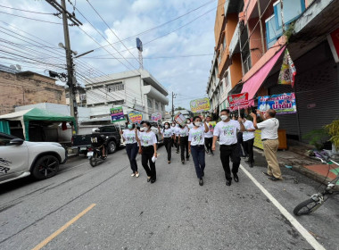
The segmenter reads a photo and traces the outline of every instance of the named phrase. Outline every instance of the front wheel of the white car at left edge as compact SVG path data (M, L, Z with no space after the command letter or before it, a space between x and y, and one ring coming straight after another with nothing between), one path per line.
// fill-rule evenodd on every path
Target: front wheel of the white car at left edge
M59 171L59 161L53 155L40 157L33 167L32 175L35 179L53 177Z

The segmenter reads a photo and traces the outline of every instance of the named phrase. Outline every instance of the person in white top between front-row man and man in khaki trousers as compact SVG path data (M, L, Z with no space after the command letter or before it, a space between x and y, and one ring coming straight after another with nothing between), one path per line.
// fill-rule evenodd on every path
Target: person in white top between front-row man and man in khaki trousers
M254 157L253 157L253 144L254 144L254 125L252 121L244 118L244 113L242 113L241 118L243 118L244 122L244 132L243 132L243 145L244 151L248 154L248 163L250 168L254 165Z

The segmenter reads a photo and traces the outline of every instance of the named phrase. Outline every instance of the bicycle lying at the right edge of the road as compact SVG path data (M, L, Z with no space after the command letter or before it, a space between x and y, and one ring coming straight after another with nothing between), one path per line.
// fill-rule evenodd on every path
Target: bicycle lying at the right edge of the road
M331 157L327 154L327 152L313 152L313 155L310 156L315 156L315 158L319 159L322 163L325 163L327 165L330 164L330 162L335 163L336 165L339 165L339 163L333 161ZM329 170L328 170L329 171ZM323 205L327 199L329 199L331 196L335 196L336 194L339 194L339 190L335 190L335 186L337 181L339 180L339 175L336 176L335 179L332 181L328 182L327 187L317 193L314 194L313 196L310 197L310 199L302 202L301 204L298 204L294 208L294 214L296 216L300 215L308 215L311 212L315 212L321 205Z

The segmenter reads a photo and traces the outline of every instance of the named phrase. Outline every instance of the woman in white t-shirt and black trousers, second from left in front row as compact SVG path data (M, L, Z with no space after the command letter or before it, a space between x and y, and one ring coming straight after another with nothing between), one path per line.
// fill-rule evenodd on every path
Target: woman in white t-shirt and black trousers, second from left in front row
M147 173L147 182L154 183L156 180L155 161L152 158L157 157L156 147L157 139L154 132L151 130L151 123L144 121L142 124L144 132L140 132L137 136L139 141L139 154L141 154L141 162ZM148 166L148 164L150 166Z

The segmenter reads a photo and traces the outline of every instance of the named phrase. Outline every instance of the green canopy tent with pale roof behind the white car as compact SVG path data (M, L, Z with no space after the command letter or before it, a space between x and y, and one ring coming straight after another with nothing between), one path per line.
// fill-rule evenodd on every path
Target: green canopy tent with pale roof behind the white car
M75 129L78 129L76 128L74 117L38 108L0 115L0 121L2 121L0 132L7 134L9 133L8 121L21 121L23 135L26 140L29 140L29 121L71 121L74 124Z

